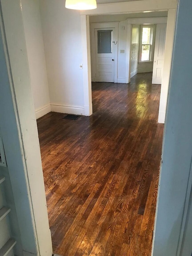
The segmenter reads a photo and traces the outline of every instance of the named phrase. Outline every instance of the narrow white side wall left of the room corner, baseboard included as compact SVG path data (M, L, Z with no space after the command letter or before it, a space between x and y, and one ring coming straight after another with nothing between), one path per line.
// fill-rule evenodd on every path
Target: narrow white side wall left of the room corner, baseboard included
M50 112L39 0L21 0L36 118Z

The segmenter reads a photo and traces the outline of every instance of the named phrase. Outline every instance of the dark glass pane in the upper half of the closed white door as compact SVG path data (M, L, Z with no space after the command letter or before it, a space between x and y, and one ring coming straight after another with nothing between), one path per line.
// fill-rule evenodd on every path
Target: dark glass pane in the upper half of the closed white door
M98 53L112 53L112 30L97 32Z

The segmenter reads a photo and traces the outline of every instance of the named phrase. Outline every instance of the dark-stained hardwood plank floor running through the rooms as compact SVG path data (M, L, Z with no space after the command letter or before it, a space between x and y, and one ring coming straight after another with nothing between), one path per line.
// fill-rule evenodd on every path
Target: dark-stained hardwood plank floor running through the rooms
M38 119L53 252L151 255L163 125L152 73L93 83L93 115Z

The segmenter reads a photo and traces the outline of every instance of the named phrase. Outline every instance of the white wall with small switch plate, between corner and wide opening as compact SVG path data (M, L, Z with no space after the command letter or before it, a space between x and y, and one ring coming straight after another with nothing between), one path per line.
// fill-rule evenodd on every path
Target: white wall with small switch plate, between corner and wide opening
M80 12L63 0L40 0L51 109L84 114Z

